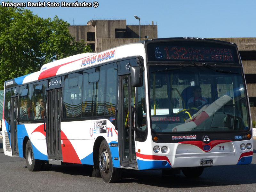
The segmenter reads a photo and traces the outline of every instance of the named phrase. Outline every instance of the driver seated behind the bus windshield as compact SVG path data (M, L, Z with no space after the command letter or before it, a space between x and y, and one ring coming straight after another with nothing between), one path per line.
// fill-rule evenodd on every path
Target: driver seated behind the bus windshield
M208 101L202 97L201 95L201 87L199 85L195 85L193 87L193 97L190 97L188 100L188 107L189 108L201 108L205 103L208 103Z

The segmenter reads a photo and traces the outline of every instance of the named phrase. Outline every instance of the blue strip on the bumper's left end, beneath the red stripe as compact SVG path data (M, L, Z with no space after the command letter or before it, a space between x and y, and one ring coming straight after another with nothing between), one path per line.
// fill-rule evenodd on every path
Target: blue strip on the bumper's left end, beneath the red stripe
M167 161L163 160L143 161L138 159L137 162L139 170L172 168L172 166Z

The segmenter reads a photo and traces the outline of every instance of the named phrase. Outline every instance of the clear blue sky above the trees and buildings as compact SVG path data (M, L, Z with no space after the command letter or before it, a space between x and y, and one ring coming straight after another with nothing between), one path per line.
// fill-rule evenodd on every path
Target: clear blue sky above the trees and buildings
M49 0L54 2L54 0ZM72 3L74 0L62 0ZM127 25L157 23L158 38L164 37L256 37L255 0L95 0L97 8L29 7L43 18L59 18L71 25L86 25L88 20L126 19ZM12 2L23 2L19 0ZM30 1L30 2L38 2ZM44 2L41 0L41 2ZM46 1L47 2L47 1ZM55 0L55 2L61 2ZM83 2L83 0L78 0ZM94 0L86 1L93 3Z

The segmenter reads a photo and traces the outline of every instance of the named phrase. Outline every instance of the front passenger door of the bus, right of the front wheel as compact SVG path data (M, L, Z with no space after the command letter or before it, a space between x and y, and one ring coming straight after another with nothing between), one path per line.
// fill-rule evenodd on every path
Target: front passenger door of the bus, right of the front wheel
M119 82L119 87L121 88L119 95L121 97L119 97L118 116L121 117L121 121L119 121L121 123L119 123L118 128L121 128L122 135L122 137L119 136L118 138L118 143L122 145L119 146L120 163L123 167L138 168L134 130L132 129L134 125L132 113L135 107L135 88L131 86L130 75L120 76Z

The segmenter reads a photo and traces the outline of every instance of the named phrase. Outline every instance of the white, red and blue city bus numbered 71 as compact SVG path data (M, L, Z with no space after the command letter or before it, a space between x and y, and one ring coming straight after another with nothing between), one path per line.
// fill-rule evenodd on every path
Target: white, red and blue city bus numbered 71
M4 154L30 171L93 165L105 182L122 168L198 177L250 164L252 124L236 44L151 39L45 64L5 81Z

